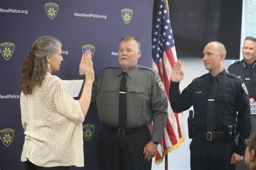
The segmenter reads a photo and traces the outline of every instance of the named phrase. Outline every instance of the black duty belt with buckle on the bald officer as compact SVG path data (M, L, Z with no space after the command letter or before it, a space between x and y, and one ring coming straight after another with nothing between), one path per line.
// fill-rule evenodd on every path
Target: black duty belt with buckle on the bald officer
M218 139L225 139L226 138L226 132L221 131L221 132L207 132L207 131L202 131L202 130L196 130L194 129L193 135L195 137L203 138L206 140L218 140Z

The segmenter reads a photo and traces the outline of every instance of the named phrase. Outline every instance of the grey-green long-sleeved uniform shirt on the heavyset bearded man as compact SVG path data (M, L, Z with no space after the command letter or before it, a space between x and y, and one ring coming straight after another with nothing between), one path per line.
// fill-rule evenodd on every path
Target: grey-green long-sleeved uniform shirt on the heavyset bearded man
M92 100L96 102L100 121L119 126L119 86L121 67L104 69L96 77L92 88ZM151 68L136 65L126 75L126 128L149 125L154 131L151 140L159 143L166 125L167 97L156 72Z

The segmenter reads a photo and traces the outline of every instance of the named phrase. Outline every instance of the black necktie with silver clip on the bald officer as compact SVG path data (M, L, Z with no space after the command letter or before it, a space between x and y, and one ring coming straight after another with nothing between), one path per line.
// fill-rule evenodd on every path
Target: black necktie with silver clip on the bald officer
M215 129L215 99L217 94L216 77L212 77L211 87L208 93L206 112L206 130L212 132Z

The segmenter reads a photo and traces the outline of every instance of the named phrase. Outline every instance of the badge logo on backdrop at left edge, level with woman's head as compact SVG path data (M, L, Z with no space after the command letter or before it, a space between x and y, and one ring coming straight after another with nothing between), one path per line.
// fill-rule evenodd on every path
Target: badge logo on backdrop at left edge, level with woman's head
M15 44L12 42L2 42L0 44L0 52L3 58L8 61L14 54Z

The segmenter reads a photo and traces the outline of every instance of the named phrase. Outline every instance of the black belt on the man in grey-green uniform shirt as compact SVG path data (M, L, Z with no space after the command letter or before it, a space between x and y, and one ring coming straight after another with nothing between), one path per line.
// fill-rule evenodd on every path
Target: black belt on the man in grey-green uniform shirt
M103 124L102 126L103 129L109 130L111 132L120 134L120 135L125 135L125 134L132 134L132 133L138 133L142 132L143 130L147 130L147 126L139 126L137 128L130 128L130 129L120 129L119 127L112 127L107 124Z

